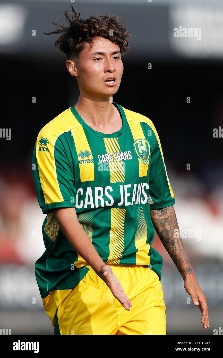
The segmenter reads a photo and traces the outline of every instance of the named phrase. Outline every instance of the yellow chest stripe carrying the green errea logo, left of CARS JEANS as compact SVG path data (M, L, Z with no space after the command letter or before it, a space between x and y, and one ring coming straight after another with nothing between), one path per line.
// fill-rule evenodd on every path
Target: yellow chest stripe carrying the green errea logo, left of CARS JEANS
M88 152L91 153L91 148L88 144L88 140L84 133L82 125L80 124L80 125L72 128L71 132L73 135L77 155L81 151L85 152L85 150L87 150ZM84 163L84 161L86 159L93 159L92 153L88 157L85 156L84 158L81 158L80 156L78 156L81 182L87 182L88 180L94 180L94 163L93 163L93 161L91 163ZM83 160L82 164L80 164L80 160Z

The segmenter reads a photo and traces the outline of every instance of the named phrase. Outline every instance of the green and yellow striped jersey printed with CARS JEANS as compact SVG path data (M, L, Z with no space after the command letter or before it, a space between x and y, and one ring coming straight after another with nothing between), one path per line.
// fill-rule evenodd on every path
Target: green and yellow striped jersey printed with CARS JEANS
M45 252L35 263L40 294L73 289L88 263L60 231L52 209L74 207L79 223L102 260L151 265L159 279L163 258L151 247L150 209L175 203L159 136L151 120L113 102L122 127L93 130L68 108L40 131L33 153L35 190L47 214ZM88 267L87 267L88 265Z

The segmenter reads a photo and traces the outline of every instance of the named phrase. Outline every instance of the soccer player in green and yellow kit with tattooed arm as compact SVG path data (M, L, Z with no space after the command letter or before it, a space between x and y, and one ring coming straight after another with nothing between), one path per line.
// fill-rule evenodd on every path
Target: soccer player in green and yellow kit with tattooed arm
M155 126L113 102L129 33L116 16L84 20L71 8L68 24L53 22L57 30L44 34L60 34L55 45L79 100L43 127L33 154L47 214L46 250L35 263L45 311L55 334L166 334L155 227L206 329L206 297L179 237Z

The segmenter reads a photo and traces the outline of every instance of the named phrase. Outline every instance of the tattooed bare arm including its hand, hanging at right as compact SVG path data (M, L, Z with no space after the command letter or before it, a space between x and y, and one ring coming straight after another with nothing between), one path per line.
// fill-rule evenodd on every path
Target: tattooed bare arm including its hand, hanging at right
M163 209L150 210L150 215L160 241L183 277L186 292L191 295L193 304L199 306L202 312L203 328L209 328L207 300L184 250L173 205Z

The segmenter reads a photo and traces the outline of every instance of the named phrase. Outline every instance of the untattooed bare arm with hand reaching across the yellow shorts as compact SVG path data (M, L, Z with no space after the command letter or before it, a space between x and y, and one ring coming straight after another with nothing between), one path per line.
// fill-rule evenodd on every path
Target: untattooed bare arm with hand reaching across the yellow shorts
M86 260L96 274L110 288L117 300L129 311L132 306L130 300L123 291L117 277L113 274L111 266L103 262L91 240L89 240L89 237L78 221L75 208L54 209L53 213L60 230L64 236L66 236L74 250Z

